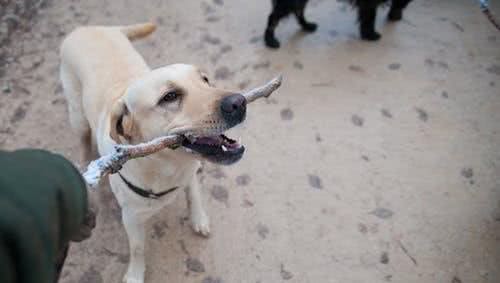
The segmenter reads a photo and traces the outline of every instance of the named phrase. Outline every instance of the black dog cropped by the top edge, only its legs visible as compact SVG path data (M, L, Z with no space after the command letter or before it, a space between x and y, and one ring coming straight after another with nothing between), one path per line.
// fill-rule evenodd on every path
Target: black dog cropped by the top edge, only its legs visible
M358 8L359 33L364 40L378 40L380 34L375 30L375 19L377 7L389 0L348 0ZM403 17L403 9L411 0L392 0L388 19L399 21ZM273 0L273 11L269 15L264 41L271 48L279 48L280 43L274 36L274 30L279 21L294 13L302 29L313 32L318 27L315 23L308 22L304 18L304 9L308 0Z

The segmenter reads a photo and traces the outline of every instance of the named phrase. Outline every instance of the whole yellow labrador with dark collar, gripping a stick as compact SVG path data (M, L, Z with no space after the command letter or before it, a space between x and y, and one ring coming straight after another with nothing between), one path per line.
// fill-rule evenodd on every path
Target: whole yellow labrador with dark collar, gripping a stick
M200 159L231 164L245 151L222 133L242 122L246 100L215 88L198 68L174 64L150 69L130 40L153 32L151 23L81 27L61 47L61 81L83 162L116 143L136 144L185 134L178 149L127 162L110 185L121 209L130 247L126 283L144 282L145 223L187 189L194 231L207 236L196 171Z

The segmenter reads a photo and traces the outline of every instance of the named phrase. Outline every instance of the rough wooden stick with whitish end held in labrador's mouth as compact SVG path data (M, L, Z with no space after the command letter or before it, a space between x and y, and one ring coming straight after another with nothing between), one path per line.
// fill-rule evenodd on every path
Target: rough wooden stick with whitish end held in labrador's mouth
M278 76L267 84L244 93L243 96L246 98L247 104L271 95L271 93L280 87L282 80L282 76ZM108 174L117 173L121 170L123 164L130 159L148 156L167 147L176 148L180 146L184 138L182 134L177 133L141 144L117 144L114 146L113 152L90 162L87 166L87 171L83 173L83 178L91 188L96 187L103 177Z

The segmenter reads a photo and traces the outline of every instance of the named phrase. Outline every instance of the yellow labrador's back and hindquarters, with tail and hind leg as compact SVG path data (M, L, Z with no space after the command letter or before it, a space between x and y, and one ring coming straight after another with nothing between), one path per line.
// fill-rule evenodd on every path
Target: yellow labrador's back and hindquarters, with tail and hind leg
M99 113L123 94L123 85L149 71L130 40L154 30L152 23L89 26L77 28L64 39L60 77L71 125L84 148L83 161L93 157L91 144L95 140Z

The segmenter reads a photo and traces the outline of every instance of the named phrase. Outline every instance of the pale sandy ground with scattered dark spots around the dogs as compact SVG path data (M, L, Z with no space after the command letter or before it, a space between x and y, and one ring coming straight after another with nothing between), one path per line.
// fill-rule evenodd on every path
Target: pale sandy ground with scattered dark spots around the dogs
M154 20L136 44L152 66L193 63L235 89L286 81L234 131L244 159L200 176L211 237L190 230L183 199L151 221L146 282L500 282L500 34L474 1L416 0L397 25L380 13L383 39L366 43L353 10L313 0L319 30L284 21L279 51L261 40L269 2L50 1L11 40L1 148L77 161L61 40L79 25ZM120 211L101 193L98 227L62 282L125 272Z

